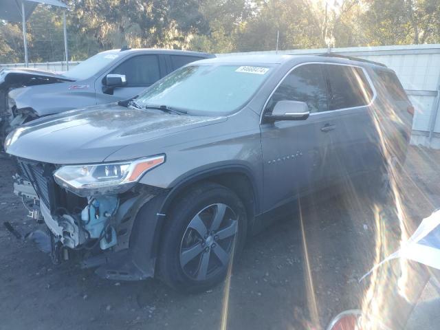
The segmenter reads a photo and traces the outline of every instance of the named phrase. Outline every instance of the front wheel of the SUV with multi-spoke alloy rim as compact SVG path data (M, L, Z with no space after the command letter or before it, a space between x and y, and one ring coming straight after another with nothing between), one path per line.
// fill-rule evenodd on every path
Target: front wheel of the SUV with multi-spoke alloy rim
M197 292L223 281L243 248L246 212L236 194L206 183L179 197L164 228L159 253L162 281Z

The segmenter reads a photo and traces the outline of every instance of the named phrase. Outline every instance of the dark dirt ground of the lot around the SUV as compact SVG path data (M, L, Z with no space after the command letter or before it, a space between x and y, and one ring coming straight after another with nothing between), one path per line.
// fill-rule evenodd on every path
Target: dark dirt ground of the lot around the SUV
M400 177L410 219L440 206L439 160L422 148L408 154ZM34 243L5 230L3 221L22 233L38 228L12 194L12 174L1 159L0 329L320 329L359 307L358 278L373 265L373 204L347 184L343 195L301 201L303 231L293 214L253 237L234 267L228 303L224 285L183 296L155 280L105 281L76 265L52 265Z

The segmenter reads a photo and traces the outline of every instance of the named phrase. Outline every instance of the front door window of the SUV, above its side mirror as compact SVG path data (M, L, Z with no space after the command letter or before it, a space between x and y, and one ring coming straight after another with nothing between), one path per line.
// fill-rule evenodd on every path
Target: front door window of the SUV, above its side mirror
M282 100L307 103L310 112L327 111L327 89L322 65L301 65L288 74L270 98L267 108Z

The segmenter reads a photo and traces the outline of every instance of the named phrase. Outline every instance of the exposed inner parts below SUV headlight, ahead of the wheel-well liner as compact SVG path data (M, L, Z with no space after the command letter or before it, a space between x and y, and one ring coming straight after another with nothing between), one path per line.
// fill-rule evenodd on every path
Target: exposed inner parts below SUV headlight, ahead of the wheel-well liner
M54 263L79 259L83 267L96 267L108 263L109 254L128 250L137 212L157 195L154 189L141 187L81 197L54 181L56 166L23 159L17 164L14 192L28 208L28 216L47 226ZM111 277L107 271L103 276Z

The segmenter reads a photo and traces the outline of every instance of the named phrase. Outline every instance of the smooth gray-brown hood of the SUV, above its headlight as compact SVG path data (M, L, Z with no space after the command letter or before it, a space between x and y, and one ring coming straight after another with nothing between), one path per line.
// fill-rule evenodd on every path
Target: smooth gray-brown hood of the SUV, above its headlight
M102 162L111 153L129 144L226 119L173 115L106 104L34 120L22 126L23 131L7 152L52 164Z

